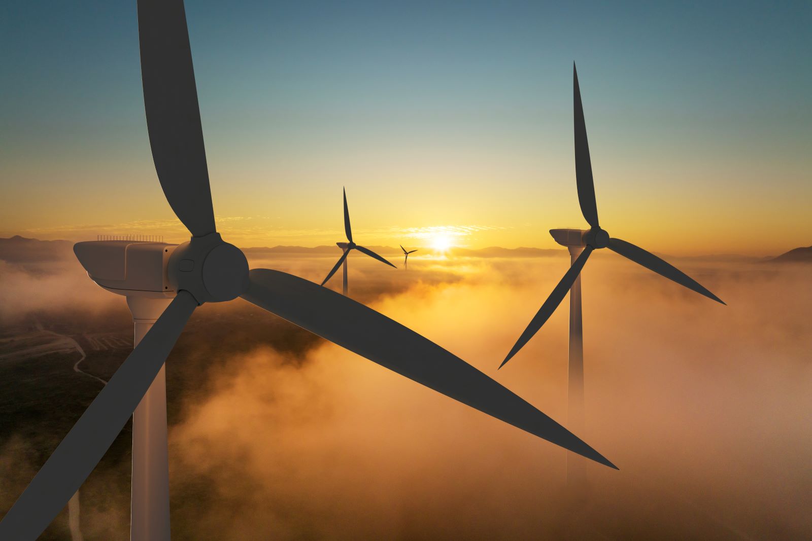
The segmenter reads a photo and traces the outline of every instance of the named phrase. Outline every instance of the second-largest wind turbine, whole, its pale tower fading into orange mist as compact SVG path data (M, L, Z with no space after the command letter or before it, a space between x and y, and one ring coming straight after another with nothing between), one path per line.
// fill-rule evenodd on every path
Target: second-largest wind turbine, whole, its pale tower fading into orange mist
M682 273L676 267L666 263L654 254L640 247L627 243L620 238L611 238L601 229L598 223L598 207L595 201L595 188L592 179L592 165L590 162L590 147L586 139L586 124L584 121L584 108L581 104L581 89L578 86L578 72L575 63L572 63L573 101L575 122L575 178L578 189L578 203L581 204L581 213L589 230L558 229L550 230L555 242L569 249L570 268L550 296L544 301L533 319L521 333L521 336L505 357L499 368L503 367L512 357L525 346L527 341L538 332L539 328L552 315L555 308L569 295L569 367L568 367L568 425L576 432L581 432L584 425L584 356L583 356L583 330L581 321L581 269L584 268L587 258L592 251L600 248L609 248L611 251L623 255L628 260L641 264L655 273L676 281L680 286L696 291L719 303L724 304L719 297L706 290L693 278ZM568 462L568 470L570 462ZM572 470L568 472L572 473Z

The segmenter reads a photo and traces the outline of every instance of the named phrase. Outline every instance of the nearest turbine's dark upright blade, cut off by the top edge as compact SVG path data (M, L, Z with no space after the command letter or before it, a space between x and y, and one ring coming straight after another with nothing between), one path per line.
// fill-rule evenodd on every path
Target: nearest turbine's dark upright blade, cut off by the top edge
M144 107L155 171L195 237L214 233L209 170L182 0L138 0Z

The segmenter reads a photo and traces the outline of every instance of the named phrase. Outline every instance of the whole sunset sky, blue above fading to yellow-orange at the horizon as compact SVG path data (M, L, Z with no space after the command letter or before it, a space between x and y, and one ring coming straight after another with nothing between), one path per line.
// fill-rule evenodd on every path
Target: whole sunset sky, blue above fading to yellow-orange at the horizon
M186 2L214 211L242 247L812 243L812 4ZM386 4L386 5L382 5ZM153 169L136 2L3 2L0 236L188 238Z

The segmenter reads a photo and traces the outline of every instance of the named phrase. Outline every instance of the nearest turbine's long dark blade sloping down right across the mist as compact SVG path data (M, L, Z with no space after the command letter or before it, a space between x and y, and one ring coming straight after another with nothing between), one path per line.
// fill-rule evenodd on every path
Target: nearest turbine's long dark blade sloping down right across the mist
M377 311L291 274L255 268L242 297L401 376L615 467L566 428L464 360Z

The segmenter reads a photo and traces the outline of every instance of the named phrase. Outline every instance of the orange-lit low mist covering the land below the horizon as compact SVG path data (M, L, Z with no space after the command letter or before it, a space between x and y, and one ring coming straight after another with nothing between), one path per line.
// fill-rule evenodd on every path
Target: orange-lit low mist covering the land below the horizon
M497 371L568 267L565 254L410 257L408 270L352 257L350 295L566 426L567 299ZM251 264L321 282L335 259ZM240 299L201 307L196 317L216 318L222 333L197 345L182 337L167 361L173 536L809 538L809 267L675 263L728 306L615 255L596 254L585 267L586 428L578 436L620 471L585 463L589 485L574 498L565 490L566 453L553 444L338 346L305 340L309 334L266 312L248 314L252 328L273 329L254 342L240 330L238 315L253 310ZM74 271L37 287L58 292L67 281L73 286L63 302L123 305L84 273L74 283ZM19 291L38 279L14 272L9 283ZM92 302L80 281L98 290ZM340 270L328 286L340 290ZM0 294L16 303L2 312L6 319L58 310L58 302L42 300L29 307L6 290L5 279ZM293 346L292 333L304 333ZM36 371L37 359L29 363ZM186 377L200 384L172 386ZM20 458L19 436L0 438L0 487L17 487L20 472L35 468ZM121 457L119 473L127 460ZM93 483L97 494L83 507L85 539L93 531L108 535L98 539L111 531L126 538L129 488L120 477ZM93 507L102 500L118 507ZM0 505L2 513L11 501L0 497Z

